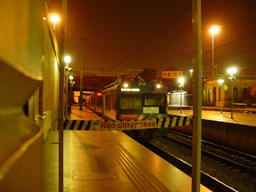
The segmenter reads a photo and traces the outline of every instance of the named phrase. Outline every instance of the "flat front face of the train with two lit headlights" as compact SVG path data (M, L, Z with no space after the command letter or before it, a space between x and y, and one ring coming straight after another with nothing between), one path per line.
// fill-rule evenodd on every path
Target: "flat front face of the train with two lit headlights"
M122 81L118 86L118 119L167 117L167 89L160 81Z

